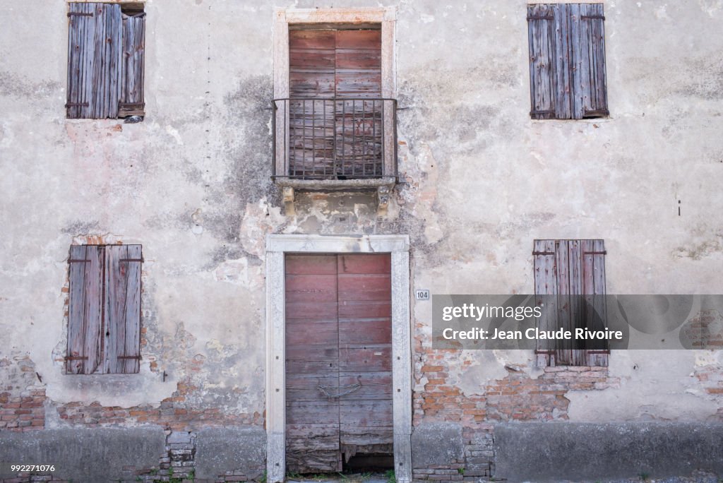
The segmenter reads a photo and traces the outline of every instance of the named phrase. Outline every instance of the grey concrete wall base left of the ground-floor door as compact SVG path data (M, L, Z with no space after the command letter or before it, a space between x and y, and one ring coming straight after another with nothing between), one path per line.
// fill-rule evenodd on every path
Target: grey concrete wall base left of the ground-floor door
M251 427L0 432L0 463L54 465L53 481L73 483L155 482L191 474L196 482L252 481L263 476L265 448L265 431ZM17 476L9 464L0 464L0 482Z

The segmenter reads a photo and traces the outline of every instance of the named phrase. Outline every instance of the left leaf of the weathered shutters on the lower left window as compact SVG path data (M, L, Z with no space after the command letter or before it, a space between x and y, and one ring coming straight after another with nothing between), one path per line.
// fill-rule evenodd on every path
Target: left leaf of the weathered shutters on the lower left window
M69 265L66 372L93 374L102 366L103 247L73 245Z

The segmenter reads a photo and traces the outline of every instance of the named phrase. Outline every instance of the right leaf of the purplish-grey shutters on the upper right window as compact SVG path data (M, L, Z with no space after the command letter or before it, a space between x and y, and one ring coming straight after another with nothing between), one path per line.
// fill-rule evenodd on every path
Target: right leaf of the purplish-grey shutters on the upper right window
M576 85L576 119L609 115L605 78L605 30L602 4L570 5L573 8L573 63Z

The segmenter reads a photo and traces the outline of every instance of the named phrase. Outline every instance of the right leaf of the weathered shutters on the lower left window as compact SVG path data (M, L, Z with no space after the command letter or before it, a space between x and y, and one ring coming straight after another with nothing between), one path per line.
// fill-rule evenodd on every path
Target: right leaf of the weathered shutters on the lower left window
M140 366L140 245L106 247L104 371L138 372Z

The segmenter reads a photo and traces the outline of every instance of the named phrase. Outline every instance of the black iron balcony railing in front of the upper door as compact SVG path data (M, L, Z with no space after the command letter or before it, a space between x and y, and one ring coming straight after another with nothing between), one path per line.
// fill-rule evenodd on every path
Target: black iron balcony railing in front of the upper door
M272 101L274 179L397 178L397 101Z

